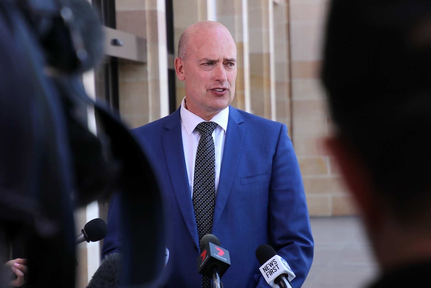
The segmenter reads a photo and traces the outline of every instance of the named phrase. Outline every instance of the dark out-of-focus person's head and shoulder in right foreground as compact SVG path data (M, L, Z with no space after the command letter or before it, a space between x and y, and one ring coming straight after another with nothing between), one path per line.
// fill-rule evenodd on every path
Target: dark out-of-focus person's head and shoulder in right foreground
M321 80L327 144L380 268L369 287L428 286L431 2L331 1Z

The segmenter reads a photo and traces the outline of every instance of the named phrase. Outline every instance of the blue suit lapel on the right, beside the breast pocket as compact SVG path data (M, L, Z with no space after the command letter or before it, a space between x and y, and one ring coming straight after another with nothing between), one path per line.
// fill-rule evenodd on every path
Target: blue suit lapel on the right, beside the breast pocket
M224 142L223 159L221 160L220 179L218 182L217 196L215 199L214 218L212 227L218 222L226 205L231 191L233 179L236 176L236 168L239 156L243 150L245 129L241 127L243 122L235 108L229 106L229 120L227 122L226 139Z

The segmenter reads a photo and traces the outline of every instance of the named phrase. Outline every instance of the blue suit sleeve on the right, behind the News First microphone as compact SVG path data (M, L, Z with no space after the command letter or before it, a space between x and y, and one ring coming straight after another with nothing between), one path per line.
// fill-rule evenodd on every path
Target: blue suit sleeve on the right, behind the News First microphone
M284 124L272 162L268 208L269 244L292 268L296 277L291 284L298 288L311 267L314 243L299 165ZM257 287L268 287L263 277Z

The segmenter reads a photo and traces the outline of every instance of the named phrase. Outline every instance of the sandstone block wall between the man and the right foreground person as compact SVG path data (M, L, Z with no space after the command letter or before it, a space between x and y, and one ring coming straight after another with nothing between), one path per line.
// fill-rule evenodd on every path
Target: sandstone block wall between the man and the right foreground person
M331 127L319 80L327 0L290 0L289 4L293 146L308 209L312 216L352 215L355 209L323 145Z

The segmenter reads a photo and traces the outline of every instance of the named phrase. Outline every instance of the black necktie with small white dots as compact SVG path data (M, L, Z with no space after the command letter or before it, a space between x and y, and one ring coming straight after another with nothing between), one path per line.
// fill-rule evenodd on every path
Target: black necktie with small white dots
M197 144L196 161L193 176L193 209L196 218L199 241L202 236L211 233L212 216L215 205L215 152L212 131L215 122L200 122L196 130L200 133ZM209 288L208 277L202 276L202 288Z

